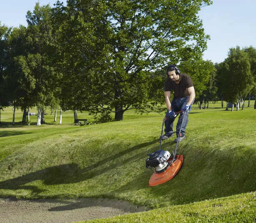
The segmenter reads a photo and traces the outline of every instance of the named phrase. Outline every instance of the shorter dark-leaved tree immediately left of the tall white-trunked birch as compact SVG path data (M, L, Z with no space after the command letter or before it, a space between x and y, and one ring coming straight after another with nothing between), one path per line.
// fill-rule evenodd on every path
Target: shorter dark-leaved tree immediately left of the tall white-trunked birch
M13 102L13 106L21 107L23 110L23 123L26 122L27 107L35 105L31 94L31 91L35 89L35 78L32 77L26 61L28 56L26 31L26 27L20 26L13 28L9 35L7 67L4 71L5 91L8 99Z

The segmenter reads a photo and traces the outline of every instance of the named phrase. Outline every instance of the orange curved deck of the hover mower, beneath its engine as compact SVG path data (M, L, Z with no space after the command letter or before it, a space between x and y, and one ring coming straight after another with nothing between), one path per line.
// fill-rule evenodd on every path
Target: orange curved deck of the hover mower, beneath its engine
M148 186L153 187L173 179L173 177L175 177L175 175L180 170L183 162L183 155L177 155L175 156L175 159L176 160L173 162L173 164L171 164L171 166L169 166L163 173L153 173L148 182ZM173 157L169 158L167 162L172 162L172 160Z

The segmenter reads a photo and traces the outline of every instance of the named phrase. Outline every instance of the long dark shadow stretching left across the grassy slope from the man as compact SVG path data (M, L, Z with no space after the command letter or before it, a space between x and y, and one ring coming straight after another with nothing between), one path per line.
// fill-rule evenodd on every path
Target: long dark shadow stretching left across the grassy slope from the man
M152 152L150 151L152 150L152 148L145 149L144 147L148 147L156 143L157 141L158 139L148 143L142 143L137 146L133 146L131 148L128 148L127 150L119 152L118 154L115 154L113 156L107 157L106 159L103 159L100 162L97 162L85 168L81 168L76 163L62 164L58 166L44 168L39 171L28 173L27 175L2 181L0 182L0 189L25 189L32 191L32 193L34 194L37 194L43 192L43 190L37 188L37 186L26 184L29 184L37 180L42 180L46 185L72 184L92 179L106 172L113 173L116 168L129 164L132 161L141 162L142 157L146 158L146 154ZM127 156L130 152L133 152L134 150L138 149L140 149L141 152L136 152L135 155L133 154L131 156ZM117 162L112 163L113 160ZM10 167L9 170L12 171L12 167Z

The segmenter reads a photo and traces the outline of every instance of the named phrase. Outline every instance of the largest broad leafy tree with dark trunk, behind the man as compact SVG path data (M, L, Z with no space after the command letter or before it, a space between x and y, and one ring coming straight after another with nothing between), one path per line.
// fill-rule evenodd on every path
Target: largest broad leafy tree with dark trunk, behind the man
M70 34L62 53L67 62L59 66L74 77L83 108L104 116L114 112L117 121L129 109L151 111L156 105L150 97L152 78L158 78L154 74L165 74L169 63L201 58L206 49L209 36L197 13L210 4L210 0L69 0L67 7L55 9L68 19L62 21L60 32Z

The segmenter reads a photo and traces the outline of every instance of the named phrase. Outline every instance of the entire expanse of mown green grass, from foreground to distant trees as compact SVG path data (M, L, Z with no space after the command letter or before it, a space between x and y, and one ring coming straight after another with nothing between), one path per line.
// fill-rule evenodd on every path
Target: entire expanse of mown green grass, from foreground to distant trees
M17 119L21 116L20 112ZM90 121L88 114L81 116ZM255 216L253 107L230 112L220 104L204 110L195 106L186 139L178 148L184 155L182 168L173 180L156 187L147 187L152 172L145 168L145 159L159 148L163 116L128 112L124 121L88 126L75 126L73 112L63 113L61 126L51 122L53 116L45 118L48 124L41 127L20 123L13 127L12 110L1 112L0 196L117 198L157 208L147 213L164 222L169 218L230 222L234 213L241 218ZM161 148L171 152L173 138ZM143 222L147 213L99 221Z

